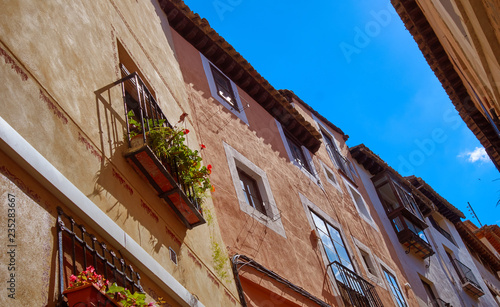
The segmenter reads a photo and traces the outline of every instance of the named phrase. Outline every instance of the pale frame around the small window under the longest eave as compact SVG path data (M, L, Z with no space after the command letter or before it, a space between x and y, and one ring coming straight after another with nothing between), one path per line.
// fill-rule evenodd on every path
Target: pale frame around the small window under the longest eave
M227 77L217 66L215 66L212 62L210 62L203 54L200 53L201 62L203 63L203 70L205 71L205 75L208 80L208 85L210 87L210 94L212 97L217 100L220 104L222 104L226 109L228 109L231 113L233 113L236 117L241 119L245 124L248 125L247 115L245 114L245 106L241 102L241 98L239 95L238 87L231 80L231 78ZM238 106L238 109L235 109L232 105L230 105L224 98L222 98L217 93L217 85L215 84L214 76L212 74L212 68L217 69L224 77L226 77L231 83L231 88L233 90L235 104Z

